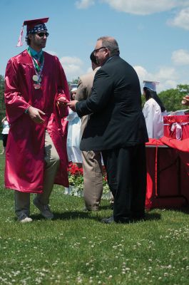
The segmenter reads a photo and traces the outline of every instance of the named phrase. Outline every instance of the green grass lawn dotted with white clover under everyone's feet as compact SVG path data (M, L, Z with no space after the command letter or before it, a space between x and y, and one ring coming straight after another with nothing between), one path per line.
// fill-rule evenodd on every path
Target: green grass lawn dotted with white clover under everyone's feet
M54 187L46 221L31 203L34 222L14 217L14 192L4 190L0 157L0 284L189 284L188 209L153 209L145 222L102 224L111 215L82 212L83 200ZM31 196L31 200L32 200Z

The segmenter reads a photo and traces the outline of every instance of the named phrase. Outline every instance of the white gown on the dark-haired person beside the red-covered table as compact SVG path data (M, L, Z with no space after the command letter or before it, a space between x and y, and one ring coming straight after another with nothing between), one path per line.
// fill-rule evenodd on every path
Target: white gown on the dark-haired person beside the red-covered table
M143 107L143 115L148 131L148 138L162 138L163 115L161 113L160 106L153 98L150 98L145 102Z

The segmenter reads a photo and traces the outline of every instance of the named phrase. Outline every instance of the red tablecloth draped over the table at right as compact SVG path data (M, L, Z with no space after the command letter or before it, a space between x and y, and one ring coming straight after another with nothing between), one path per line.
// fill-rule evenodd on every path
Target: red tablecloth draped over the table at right
M146 209L182 207L187 204L189 201L189 138L150 139L146 143L146 157Z

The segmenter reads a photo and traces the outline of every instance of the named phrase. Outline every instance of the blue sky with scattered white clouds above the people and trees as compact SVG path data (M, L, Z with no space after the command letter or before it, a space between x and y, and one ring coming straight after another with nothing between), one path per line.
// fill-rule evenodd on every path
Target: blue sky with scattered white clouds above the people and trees
M48 16L45 51L58 56L68 81L90 71L96 39L113 36L141 88L143 80L160 81L158 92L189 84L189 0L1 0L1 75L26 48L16 48L24 20Z

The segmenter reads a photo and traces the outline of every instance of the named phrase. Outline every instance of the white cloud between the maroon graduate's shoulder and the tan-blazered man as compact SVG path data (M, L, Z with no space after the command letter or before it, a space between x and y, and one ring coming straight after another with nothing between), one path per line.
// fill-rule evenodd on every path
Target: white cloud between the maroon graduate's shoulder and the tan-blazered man
M81 76L81 74L83 74L83 62L80 58L63 56L62 58L60 58L60 62L63 66L63 70L66 73L68 81L76 79L78 78L78 76Z

